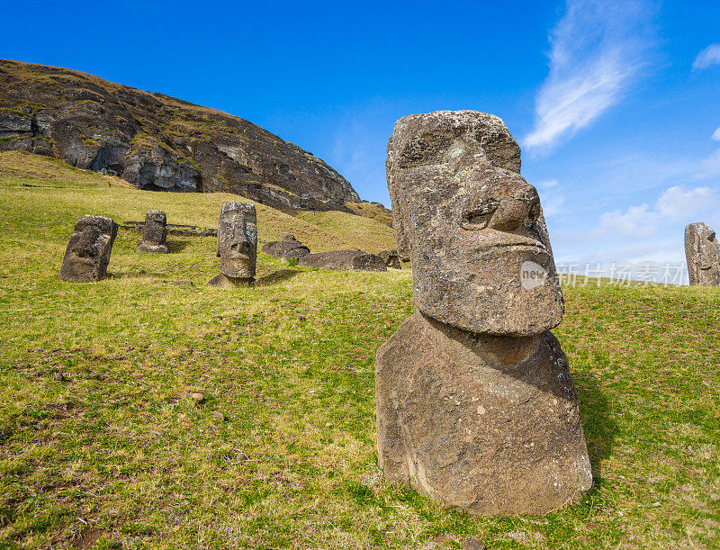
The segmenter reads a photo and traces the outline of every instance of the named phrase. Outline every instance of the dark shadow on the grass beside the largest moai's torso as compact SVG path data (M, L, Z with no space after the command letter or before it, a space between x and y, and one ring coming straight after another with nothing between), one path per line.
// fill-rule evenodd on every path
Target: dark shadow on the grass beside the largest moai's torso
M610 402L593 374L575 371L572 378L578 391L592 478L594 482L599 482L602 478L602 463L612 453L617 422L613 419Z

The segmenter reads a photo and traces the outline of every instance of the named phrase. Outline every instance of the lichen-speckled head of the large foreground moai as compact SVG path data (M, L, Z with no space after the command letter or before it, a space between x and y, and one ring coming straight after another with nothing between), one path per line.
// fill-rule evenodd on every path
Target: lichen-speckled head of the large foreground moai
M398 247L419 310L460 329L530 336L563 318L543 211L520 148L497 116L401 118L388 143Z

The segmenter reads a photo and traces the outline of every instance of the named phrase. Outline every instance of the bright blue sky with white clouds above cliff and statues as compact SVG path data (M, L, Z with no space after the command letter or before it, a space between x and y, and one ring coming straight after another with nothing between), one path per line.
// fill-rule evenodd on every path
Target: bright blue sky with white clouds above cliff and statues
M114 2L4 6L0 57L255 122L390 204L410 113L499 115L559 262L684 260L720 230L720 2Z

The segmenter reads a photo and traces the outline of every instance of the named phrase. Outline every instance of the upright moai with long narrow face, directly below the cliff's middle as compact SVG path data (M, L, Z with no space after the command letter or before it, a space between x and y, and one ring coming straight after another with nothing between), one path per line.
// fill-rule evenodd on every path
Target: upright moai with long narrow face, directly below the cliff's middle
M208 284L231 288L255 282L257 215L254 205L236 202L222 205L217 254L220 275Z

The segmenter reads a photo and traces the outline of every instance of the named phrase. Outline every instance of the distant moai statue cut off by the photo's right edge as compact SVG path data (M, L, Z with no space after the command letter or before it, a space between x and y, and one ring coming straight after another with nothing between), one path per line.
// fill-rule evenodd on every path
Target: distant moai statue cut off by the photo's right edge
M707 223L685 228L685 257L690 285L720 286L720 243Z

